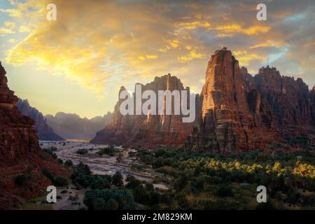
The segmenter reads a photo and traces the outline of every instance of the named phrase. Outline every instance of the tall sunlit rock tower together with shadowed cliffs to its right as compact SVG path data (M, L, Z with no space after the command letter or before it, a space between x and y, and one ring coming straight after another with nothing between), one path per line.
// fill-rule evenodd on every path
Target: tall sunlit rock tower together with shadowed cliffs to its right
M190 148L251 151L314 130L314 90L269 66L251 76L226 48L209 61L202 97L202 122L188 138Z

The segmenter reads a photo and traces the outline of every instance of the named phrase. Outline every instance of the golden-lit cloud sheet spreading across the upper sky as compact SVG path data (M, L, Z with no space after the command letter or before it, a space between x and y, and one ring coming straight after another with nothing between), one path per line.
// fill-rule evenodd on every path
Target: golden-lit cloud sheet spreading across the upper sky
M57 21L51 22L45 20L47 3L15 1L0 9L25 35L6 50L6 62L65 76L93 94L116 85L132 88L169 72L201 89L208 59L223 46L248 71L257 71L279 52L283 55L272 63L279 62L280 69L286 59L301 71L315 70L310 57L315 54L314 7L308 3L269 1L264 22L255 19L255 4L248 1L55 0ZM301 12L297 23L286 22ZM14 29L3 25L0 35L15 34Z

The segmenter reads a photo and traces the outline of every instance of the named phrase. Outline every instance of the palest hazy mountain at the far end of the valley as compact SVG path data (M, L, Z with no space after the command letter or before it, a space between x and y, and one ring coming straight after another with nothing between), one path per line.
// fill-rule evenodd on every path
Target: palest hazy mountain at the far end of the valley
M99 130L102 130L111 122L112 113L108 112L103 117L97 116L91 119L80 118L75 113L56 113L45 116L48 125L65 139L92 139Z

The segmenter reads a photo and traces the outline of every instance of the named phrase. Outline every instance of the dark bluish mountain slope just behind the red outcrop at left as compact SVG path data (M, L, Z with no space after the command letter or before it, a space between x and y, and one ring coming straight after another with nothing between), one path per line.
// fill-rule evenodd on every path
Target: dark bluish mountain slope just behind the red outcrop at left
M18 110L24 116L29 116L34 120L34 129L37 131L38 139L45 141L63 141L64 139L52 130L52 128L46 123L43 114L36 108L29 106L27 99L19 99L15 104Z

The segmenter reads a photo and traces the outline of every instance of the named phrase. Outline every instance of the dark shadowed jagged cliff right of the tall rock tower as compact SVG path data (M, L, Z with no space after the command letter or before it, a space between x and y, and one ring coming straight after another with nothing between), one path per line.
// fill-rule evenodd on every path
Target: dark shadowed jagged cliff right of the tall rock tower
M251 80L261 98L262 123L281 132L312 123L310 92L301 78L281 76L276 68L262 67Z

